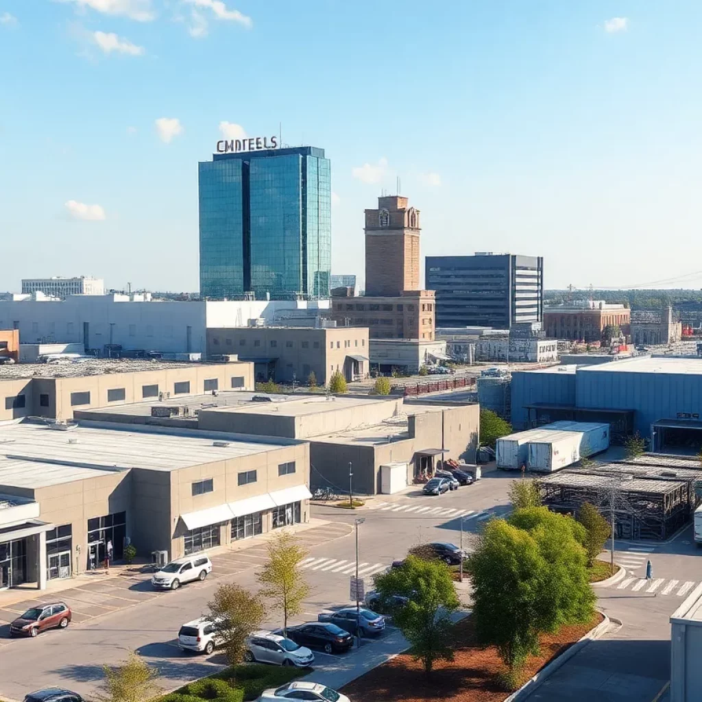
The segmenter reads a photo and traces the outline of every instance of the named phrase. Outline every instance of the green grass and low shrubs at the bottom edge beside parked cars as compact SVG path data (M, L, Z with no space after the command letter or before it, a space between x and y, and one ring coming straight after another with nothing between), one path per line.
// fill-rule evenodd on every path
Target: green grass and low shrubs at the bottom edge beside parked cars
M235 665L221 673L189 682L175 692L157 697L152 702L241 702L255 700L265 689L279 687L307 675L310 668L293 668L287 665Z

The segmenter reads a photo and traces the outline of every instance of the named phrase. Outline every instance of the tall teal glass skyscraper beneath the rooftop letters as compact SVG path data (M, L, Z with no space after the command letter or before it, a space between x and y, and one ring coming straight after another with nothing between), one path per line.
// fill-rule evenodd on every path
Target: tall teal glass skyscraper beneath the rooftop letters
M200 294L329 296L331 167L312 146L198 164Z

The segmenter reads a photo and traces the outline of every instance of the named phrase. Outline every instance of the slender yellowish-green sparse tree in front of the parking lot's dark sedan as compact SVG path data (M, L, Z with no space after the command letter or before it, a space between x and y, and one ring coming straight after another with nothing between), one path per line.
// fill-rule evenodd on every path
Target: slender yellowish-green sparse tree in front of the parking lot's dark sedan
M284 531L272 538L267 548L268 560L258 573L258 582L263 585L263 595L272 601L272 607L282 611L283 631L286 631L288 619L300 614L303 601L310 594L310 585L300 568L308 552Z

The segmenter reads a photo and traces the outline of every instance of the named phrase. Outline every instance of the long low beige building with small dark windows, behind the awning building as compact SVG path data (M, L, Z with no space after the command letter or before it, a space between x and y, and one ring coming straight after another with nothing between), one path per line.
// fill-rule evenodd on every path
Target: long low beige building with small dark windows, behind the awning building
M0 423L68 420L77 409L253 390L253 364L109 361L0 366Z

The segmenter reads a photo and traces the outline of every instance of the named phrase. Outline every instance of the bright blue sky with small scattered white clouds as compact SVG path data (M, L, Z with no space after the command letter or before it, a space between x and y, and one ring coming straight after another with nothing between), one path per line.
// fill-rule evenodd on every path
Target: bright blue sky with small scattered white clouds
M399 176L424 255L702 287L701 26L696 0L0 0L0 290L197 290L223 122L326 149L333 272Z

